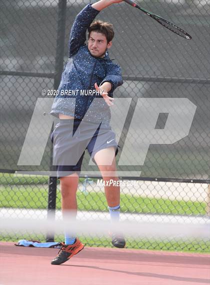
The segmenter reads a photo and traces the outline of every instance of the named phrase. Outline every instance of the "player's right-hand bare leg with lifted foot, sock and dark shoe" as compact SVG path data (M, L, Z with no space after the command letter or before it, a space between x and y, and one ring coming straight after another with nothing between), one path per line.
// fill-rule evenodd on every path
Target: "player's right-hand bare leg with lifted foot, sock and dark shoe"
M104 190L111 221L118 222L120 212L120 187L116 173L115 147L108 147L99 150L94 155L94 161L96 162L103 181L105 182ZM112 233L111 235L111 242L115 247L122 248L125 246L125 240L121 234Z

